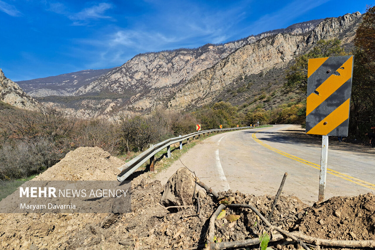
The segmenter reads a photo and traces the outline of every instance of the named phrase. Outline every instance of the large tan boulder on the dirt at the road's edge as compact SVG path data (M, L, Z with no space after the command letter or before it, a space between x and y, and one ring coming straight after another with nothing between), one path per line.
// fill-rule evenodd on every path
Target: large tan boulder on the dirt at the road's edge
M160 204L163 206L192 205L195 179L185 167L178 169L165 184Z

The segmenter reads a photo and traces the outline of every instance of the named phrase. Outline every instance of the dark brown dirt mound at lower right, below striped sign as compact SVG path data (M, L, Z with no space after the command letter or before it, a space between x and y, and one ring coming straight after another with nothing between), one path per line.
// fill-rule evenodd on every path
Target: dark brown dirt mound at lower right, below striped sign
M375 196L332 197L309 208L299 223L299 230L313 237L375 240Z

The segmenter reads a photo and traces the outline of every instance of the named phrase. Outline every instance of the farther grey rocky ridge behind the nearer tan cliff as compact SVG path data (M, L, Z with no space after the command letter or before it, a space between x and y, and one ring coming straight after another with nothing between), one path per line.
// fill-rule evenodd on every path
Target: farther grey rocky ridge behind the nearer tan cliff
M245 45L278 33L302 34L313 30L321 20L293 24L286 29L263 32L256 36L226 44L206 44L196 49L178 49L158 53L145 53L133 57L117 69L102 75L90 84L80 87L75 95L109 91L124 93L146 89L172 87L186 83L202 70L216 63Z

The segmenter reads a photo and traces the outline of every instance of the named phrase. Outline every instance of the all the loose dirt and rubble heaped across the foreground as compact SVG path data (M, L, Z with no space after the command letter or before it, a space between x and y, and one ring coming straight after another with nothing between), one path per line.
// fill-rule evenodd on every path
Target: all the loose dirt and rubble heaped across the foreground
M122 161L99 148L79 148L38 178L115 178L121 164ZM219 193L217 200L198 185L195 187L195 179L186 169L178 170L166 187L160 181L150 181L147 176L144 173L132 180L131 213L0 214L1 248L141 250L204 246L208 224L219 200L251 204L267 218L275 198L229 190ZM194 190L199 197L198 214ZM166 206L184 207L166 209L160 204L161 199ZM312 207L297 197L281 197L270 223L290 232L300 231L323 239L375 240L375 196L333 197ZM226 207L225 215L215 220L214 241L256 239L265 232L277 233L250 209ZM299 247L290 239L270 242L269 246L275 249ZM259 244L249 247L252 248L259 248Z

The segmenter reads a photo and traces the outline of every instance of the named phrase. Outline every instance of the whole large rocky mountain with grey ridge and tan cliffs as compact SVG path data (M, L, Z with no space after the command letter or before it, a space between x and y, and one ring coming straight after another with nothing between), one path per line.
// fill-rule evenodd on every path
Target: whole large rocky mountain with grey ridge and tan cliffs
M39 100L58 103L69 108L69 113L86 116L142 113L157 106L186 110L219 100L245 107L256 96L263 96L260 93L266 93L266 98L271 92L275 95L286 67L320 39L338 37L350 48L361 19L361 14L355 12L293 24L226 44L138 54L82 85L74 96Z

